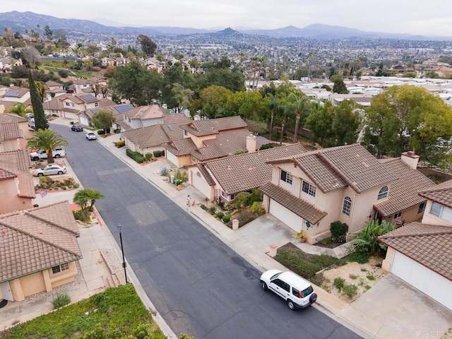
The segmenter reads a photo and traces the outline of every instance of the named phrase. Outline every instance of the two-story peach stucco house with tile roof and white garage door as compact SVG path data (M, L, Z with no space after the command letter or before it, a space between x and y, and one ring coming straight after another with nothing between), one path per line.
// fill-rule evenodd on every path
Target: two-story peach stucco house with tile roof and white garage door
M303 230L311 244L328 237L331 222L337 220L347 223L350 233L373 218L401 222L405 210L405 222L410 222L422 217L425 199L413 198L417 193L408 189L412 181L405 179L422 174L408 165L417 159L404 154L400 160L406 164L397 162L388 169L359 144L271 160L272 180L261 187L263 204L293 230ZM431 182L422 179L422 184ZM391 199L396 212L384 205Z

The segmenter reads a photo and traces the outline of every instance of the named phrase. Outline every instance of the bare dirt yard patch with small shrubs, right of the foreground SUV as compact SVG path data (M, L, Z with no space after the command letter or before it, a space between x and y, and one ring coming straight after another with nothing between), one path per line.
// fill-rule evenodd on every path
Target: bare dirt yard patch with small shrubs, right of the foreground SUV
M323 290L327 290L345 302L352 302L360 295L369 290L386 275L381 269L381 258L370 258L368 263L347 263L344 266L337 266L323 271ZM355 297L348 297L340 292L333 283L335 278L343 278L345 285L355 285L357 294Z

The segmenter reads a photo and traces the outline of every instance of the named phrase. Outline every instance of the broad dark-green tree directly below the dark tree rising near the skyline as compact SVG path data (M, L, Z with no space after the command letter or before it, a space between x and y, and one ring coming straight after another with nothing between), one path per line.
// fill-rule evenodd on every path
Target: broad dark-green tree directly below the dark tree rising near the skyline
M117 95L130 100L132 105L150 105L153 100L160 100L162 76L148 71L138 61L131 61L126 66L117 67L109 86Z

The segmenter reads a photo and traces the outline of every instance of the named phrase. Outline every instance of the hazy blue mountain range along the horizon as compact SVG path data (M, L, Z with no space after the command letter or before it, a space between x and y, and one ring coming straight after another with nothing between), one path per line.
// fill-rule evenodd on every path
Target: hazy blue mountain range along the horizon
M97 22L96 22L97 21ZM39 27L37 27L39 25ZM81 33L98 33L98 34L145 34L150 36L158 35L191 35L191 34L207 34L218 30L203 30L196 28L179 28L179 27L130 27L120 26L112 20L97 18L93 20L78 20L55 18L54 16L46 16L32 12L11 11L0 13L0 28L11 27L13 32L24 33L25 29L37 30L43 34L44 26L49 25L53 31L63 30L66 34ZM232 30L228 28L229 30ZM268 37L281 38L308 38L319 40L336 40L336 39L398 39L398 40L450 40L446 37L424 37L421 35L410 34L393 34L384 32L366 32L353 28L345 28L341 26L323 25L316 23L308 25L305 28L297 28L295 26L287 26L274 30L261 30L251 28L237 28L233 30L248 35L263 35ZM223 31L224 32L224 31ZM231 32L227 33L228 35Z

